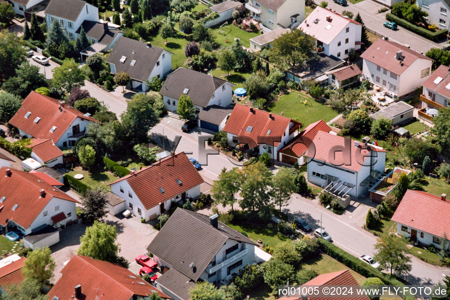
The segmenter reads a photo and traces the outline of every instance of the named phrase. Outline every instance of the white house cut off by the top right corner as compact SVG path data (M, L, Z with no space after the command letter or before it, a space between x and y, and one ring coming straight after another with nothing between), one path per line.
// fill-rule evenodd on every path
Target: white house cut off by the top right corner
M427 22L429 24L435 24L438 27L438 29L449 28L450 24L449 0L416 0L416 5L419 6L424 12L428 13Z

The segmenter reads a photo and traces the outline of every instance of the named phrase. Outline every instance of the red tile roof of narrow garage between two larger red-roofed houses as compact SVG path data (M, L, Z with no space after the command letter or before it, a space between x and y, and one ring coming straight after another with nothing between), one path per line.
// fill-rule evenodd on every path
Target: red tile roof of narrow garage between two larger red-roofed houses
M289 150L292 151L297 157L301 157L305 154L307 147L311 145L312 140L318 131L330 132L331 127L327 125L324 120L314 122L294 137L286 146L281 148L278 152L286 153L289 155Z

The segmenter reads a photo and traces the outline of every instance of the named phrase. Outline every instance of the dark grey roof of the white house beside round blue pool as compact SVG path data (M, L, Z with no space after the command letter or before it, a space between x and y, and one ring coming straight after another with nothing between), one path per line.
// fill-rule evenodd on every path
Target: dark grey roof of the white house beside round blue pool
M189 89L187 95L195 105L207 107L214 91L226 82L202 72L179 67L169 76L162 85L159 94L179 99L184 89Z

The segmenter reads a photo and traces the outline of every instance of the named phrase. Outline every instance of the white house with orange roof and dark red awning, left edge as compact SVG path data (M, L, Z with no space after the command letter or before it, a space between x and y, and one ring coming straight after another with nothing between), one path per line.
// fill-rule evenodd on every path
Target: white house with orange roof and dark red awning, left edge
M6 167L0 169L0 174L0 225L6 230L13 228L25 235L25 246L33 248L34 244L41 241L27 241L29 235L39 234L47 226L65 226L76 219L75 204L78 201L56 188L61 185L57 180ZM42 245L40 242L39 246L51 246L59 242L59 232L56 230L47 240L53 243Z

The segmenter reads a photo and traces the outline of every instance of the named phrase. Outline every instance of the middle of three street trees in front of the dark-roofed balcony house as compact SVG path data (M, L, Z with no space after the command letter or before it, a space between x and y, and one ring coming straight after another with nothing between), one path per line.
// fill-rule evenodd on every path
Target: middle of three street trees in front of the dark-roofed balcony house
M270 206L272 172L258 161L243 167L239 173L242 176L239 206L243 210Z

